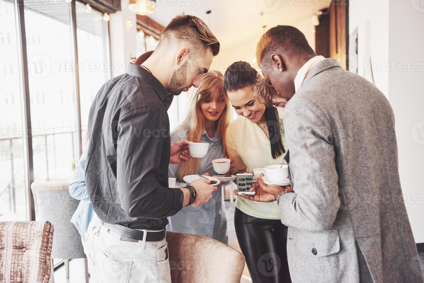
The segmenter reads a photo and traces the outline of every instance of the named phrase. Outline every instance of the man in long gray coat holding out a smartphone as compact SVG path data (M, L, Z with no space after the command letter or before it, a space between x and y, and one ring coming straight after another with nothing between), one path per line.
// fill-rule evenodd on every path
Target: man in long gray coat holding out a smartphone
M262 36L257 62L288 101L291 186L258 178L256 194L243 196L279 202L292 281L422 283L388 100L335 59L316 56L290 26Z

